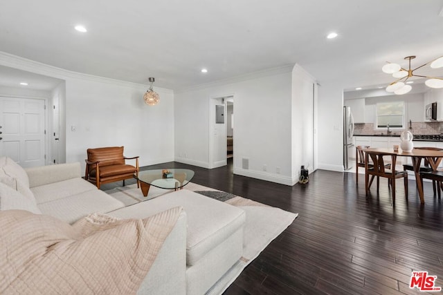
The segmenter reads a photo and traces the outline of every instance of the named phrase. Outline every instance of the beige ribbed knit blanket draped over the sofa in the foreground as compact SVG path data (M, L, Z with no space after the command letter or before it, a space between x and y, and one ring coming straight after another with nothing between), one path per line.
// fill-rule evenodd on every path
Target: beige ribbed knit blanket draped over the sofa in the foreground
M0 294L136 294L181 210L143 220L94 214L74 225L0 211Z

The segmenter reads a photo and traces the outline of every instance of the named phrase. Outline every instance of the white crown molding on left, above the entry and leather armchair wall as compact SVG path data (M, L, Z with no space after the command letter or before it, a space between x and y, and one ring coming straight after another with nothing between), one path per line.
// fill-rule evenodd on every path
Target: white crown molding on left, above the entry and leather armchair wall
M19 70L26 70L31 73L45 75L49 77L54 77L58 79L83 79L92 82L107 83L112 85L136 88L146 91L149 88L147 84L137 84L133 82L122 81L118 79L111 79L107 77L100 77L95 75L89 75L84 73L74 72L72 70L66 70L64 68L57 68L56 66L50 66L48 64L43 64L39 61L33 61L31 59L26 59L24 57L19 57L17 55L11 55L10 53L5 53L0 51L0 65L8 66L10 68L17 68ZM158 93L170 93L174 94L172 89L156 87L156 92Z

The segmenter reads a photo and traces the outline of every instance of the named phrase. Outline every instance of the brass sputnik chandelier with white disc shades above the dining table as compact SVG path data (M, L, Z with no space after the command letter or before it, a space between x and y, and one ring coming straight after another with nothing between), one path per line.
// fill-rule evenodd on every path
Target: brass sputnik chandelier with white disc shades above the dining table
M443 78L440 77L428 77L423 75L415 75L415 70L418 70L419 68L422 68L428 64L430 64L431 68L442 68L443 67L443 57L439 57L437 59L434 59L433 61L429 61L428 63L419 66L417 68L411 69L410 68L410 60L415 59L415 55L411 55L410 57L405 57L404 59L409 61L409 68L401 68L399 64L394 64L388 62L388 64L384 65L381 70L383 70L386 74L392 74L392 77L397 78L394 82L389 84L388 87L386 87L386 91L393 92L397 95L406 94L411 89L412 86L409 84L406 84L406 81L410 77L422 77L422 78L428 78L424 84L426 86L431 88L443 88Z

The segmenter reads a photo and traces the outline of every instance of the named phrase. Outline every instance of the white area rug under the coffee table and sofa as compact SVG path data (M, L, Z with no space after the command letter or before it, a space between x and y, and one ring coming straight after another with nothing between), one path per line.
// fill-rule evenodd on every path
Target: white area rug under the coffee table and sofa
M192 182L187 184L185 189L202 192L217 191L217 189L211 189ZM147 197L144 197L141 189L138 189L136 184L132 184L106 192L129 206L130 204L160 197L170 191L171 190L151 187ZM206 294L211 295L223 293L239 274L242 273L243 269L251 263L273 239L277 238L284 229L289 227L298 216L298 213L291 213L234 195L231 195L230 199L226 200L226 203L246 211L243 256L206 292Z

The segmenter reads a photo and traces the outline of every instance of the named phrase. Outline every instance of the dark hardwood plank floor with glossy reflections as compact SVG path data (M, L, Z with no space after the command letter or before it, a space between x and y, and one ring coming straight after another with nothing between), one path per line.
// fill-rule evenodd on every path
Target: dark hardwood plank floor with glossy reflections
M225 294L418 294L408 287L413 270L437 276L443 287L442 200L429 183L422 206L413 178L407 201L399 180L393 207L386 180L366 198L364 178L356 187L354 173L318 170L308 184L288 187L233 175L232 160L211 170L176 162L149 168L167 167L193 169L192 182L299 213Z

